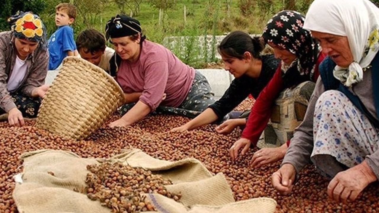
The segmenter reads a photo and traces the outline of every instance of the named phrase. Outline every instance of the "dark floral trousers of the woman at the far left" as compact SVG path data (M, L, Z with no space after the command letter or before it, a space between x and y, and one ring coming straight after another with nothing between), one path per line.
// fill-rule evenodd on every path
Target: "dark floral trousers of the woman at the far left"
M23 117L37 117L39 106L41 105L40 98L33 98L20 92L11 93L11 96L13 102L16 104L17 109L21 111ZM6 112L0 109L0 114L4 113Z

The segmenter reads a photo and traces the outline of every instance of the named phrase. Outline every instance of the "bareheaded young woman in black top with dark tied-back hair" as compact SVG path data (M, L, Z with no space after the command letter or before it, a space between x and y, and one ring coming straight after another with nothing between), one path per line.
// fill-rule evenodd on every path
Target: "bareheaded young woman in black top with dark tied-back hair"
M259 38L251 38L242 31L234 31L227 35L219 44L218 52L224 61L225 69L234 75L235 79L221 99L210 105L199 116L180 127L173 128L172 131L193 130L221 120L249 94L257 98L273 77L279 64L279 60L273 55L260 55L263 47ZM242 120L244 124L245 119Z

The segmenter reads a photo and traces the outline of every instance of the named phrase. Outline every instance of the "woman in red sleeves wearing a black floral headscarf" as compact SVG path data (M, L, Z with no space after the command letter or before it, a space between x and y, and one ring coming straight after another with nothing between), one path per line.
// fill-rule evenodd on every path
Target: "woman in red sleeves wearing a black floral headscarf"
M230 147L229 152L233 160L238 156L240 149L242 149L241 154L243 155L249 147L257 145L258 139L273 113L275 99L279 95L281 97L294 96L295 92L291 91L300 91L298 93L303 95L302 90L306 89L308 91L307 100L309 100L310 93L314 88L313 82L319 75L318 64L324 59L325 54L321 53L321 49L311 37L310 32L303 29L304 20L305 17L296 11L281 11L268 21L263 30L262 38L274 49L274 55L280 58L281 62L273 78L254 103L241 138ZM305 81L313 82L302 83ZM289 90L285 91L285 89ZM283 93L283 91L285 92ZM296 100L296 97L289 98ZM303 109L301 113L296 110L295 106L294 114L297 119L295 122L298 124L297 122L304 117L305 110ZM276 117L279 117L280 120L281 116ZM288 137L287 143L283 141L284 144L280 147L265 148L255 152L251 160L253 167L284 157L291 133L297 125L283 125L287 125L286 128L288 128L285 135Z

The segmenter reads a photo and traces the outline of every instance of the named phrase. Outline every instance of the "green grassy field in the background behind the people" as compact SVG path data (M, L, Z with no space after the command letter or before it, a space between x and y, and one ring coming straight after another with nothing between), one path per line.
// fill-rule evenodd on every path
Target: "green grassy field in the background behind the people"
M83 0L89 1L89 0ZM259 8L255 6L253 12L248 16L243 16L239 8L240 0L232 0L230 14L227 13L226 0L176 0L173 8L163 11L163 19L159 23L159 9L151 6L148 1L140 5L138 16L134 16L141 22L146 36L154 42L162 42L165 36L181 36L193 34L191 31L197 30L200 34L225 34L233 30L243 30L251 34L262 32L267 20L274 13L284 9L282 0L272 0L273 4L269 8ZM253 1L254 2L254 1ZM299 2L299 1L298 1ZM96 0L94 0L96 3ZM184 6L186 6L186 22L184 22ZM129 9L125 9L130 14ZM108 1L103 7L100 17L92 20L91 27L104 32L105 23L112 16L120 13L117 5ZM213 23L213 16L218 14L216 23ZM46 15L44 17L47 17ZM49 17L52 19L53 15ZM46 20L45 20L46 22ZM86 28L83 18L78 15L75 21L75 34ZM49 25L49 28L52 26ZM199 30L200 29L200 30ZM49 34L52 30L49 29Z

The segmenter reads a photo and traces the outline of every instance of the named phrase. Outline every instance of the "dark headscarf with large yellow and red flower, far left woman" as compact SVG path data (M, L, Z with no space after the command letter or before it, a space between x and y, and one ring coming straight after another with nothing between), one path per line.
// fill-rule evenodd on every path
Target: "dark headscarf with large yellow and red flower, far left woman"
M16 38L45 43L46 29L41 19L31 12L20 12L8 19Z

